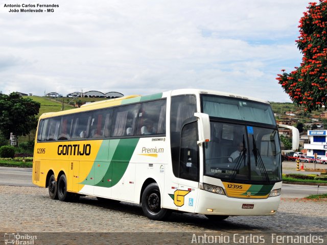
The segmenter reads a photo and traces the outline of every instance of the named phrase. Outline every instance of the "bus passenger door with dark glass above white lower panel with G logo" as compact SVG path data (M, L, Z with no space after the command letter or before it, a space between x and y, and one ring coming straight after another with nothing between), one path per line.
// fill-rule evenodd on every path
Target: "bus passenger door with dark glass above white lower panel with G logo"
M194 212L199 187L199 146L197 145L197 122L183 127L181 133L178 193L174 203L178 210Z

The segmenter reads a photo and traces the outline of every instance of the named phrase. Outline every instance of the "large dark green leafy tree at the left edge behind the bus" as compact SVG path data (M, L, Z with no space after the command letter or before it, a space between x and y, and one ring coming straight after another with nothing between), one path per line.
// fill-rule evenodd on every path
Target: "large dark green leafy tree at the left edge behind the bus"
M0 95L0 131L9 139L10 133L21 136L27 135L37 127L40 103L19 94Z

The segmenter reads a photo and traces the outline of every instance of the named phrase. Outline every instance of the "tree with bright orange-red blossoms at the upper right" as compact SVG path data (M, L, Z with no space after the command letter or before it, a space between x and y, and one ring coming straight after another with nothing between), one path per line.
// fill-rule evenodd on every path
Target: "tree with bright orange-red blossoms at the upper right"
M327 106L327 0L309 3L299 21L297 47L303 54L300 67L277 75L291 100L306 111Z

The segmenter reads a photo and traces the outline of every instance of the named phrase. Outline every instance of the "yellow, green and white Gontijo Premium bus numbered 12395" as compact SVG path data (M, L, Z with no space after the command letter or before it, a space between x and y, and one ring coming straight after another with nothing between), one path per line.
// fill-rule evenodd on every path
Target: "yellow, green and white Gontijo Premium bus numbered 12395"
M40 116L33 183L51 199L81 195L221 220L272 215L282 188L281 148L268 102L179 89L130 95Z

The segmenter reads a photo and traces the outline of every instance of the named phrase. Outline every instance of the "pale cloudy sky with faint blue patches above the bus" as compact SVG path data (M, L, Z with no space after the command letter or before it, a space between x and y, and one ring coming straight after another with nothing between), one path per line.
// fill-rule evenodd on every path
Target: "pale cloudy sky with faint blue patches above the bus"
M309 2L0 0L0 91L199 88L291 102L275 78L301 62L295 40Z

